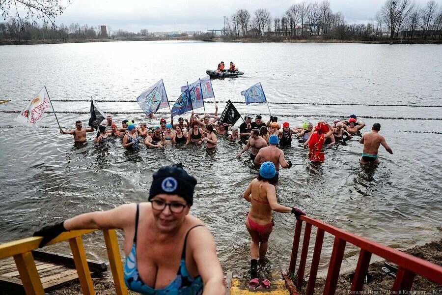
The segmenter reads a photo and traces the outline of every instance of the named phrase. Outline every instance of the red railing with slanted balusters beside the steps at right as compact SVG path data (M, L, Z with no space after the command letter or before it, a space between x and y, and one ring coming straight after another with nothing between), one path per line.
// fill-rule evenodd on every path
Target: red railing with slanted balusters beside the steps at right
M322 242L324 240L325 232L334 236L334 244L331 252L326 283L324 286L324 295L333 295L336 291L339 270L341 268L342 258L344 256L345 245L347 242L360 248L358 264L356 266L356 272L351 287L352 292L362 291L363 281L365 274L367 273L372 254L385 258L386 260L399 266L396 273L396 280L393 283L391 291L410 291L413 285L414 276L416 274L426 277L437 284L442 284L442 266L438 266L423 259L400 252L369 239L344 232L334 226L307 216L301 216L301 219L297 220L296 222L292 257L290 259L289 266L290 273L295 272L303 221L305 222L305 229L296 281L298 288L301 288L304 280L311 227L315 226L317 228L313 257L310 266L310 275L307 283L307 289L305 291L306 295L312 295L315 288L316 275L318 272L319 259L321 257Z

